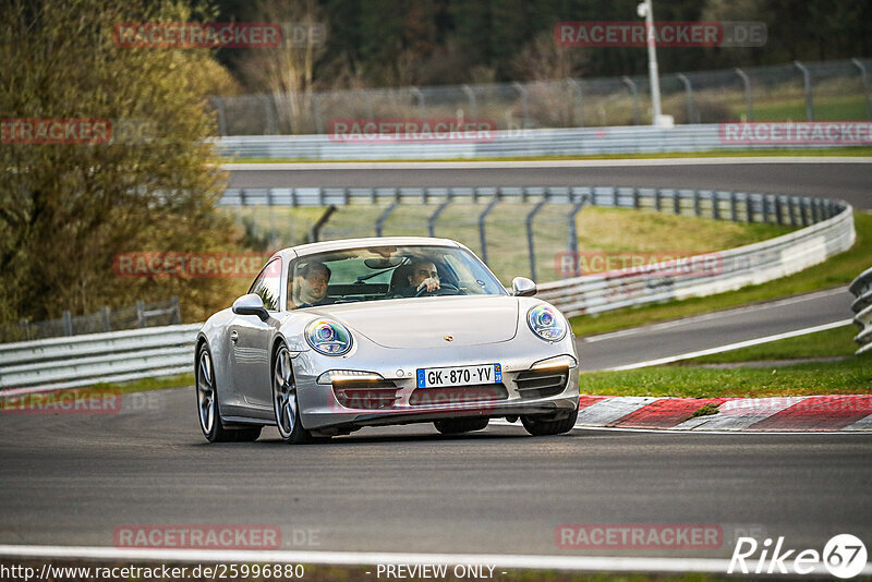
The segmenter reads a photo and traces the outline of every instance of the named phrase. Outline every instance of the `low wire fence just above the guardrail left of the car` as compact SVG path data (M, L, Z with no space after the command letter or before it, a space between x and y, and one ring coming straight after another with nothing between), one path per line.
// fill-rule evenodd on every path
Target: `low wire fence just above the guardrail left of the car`
M179 299L173 296L156 303L137 301L136 305L114 310L104 305L100 311L86 315L73 316L70 312L63 312L60 318L45 322L22 319L17 325L0 327L0 343L181 323Z

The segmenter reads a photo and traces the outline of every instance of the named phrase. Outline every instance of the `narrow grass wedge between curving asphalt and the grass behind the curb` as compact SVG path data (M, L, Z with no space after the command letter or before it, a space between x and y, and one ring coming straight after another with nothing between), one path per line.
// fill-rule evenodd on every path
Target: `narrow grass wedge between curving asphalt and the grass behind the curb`
M847 314L846 314L847 318ZM856 326L844 326L796 338L761 343L741 350L704 355L686 360L685 364L729 364L734 362L766 362L771 360L799 360L803 357L836 357L853 355ZM682 364L682 365L685 365Z

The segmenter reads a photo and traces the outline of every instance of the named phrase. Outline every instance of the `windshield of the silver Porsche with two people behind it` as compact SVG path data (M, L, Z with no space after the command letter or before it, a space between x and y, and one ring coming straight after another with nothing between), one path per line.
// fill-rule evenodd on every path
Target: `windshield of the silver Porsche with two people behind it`
M370 246L307 255L288 271L288 308L434 295L505 295L464 248Z

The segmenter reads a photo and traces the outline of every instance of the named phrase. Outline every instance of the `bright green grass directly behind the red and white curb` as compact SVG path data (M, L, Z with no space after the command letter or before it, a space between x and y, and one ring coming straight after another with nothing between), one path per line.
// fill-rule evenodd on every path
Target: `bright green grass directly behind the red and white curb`
M777 368L653 366L626 372L592 372L582 374L579 385L582 393L603 396L763 398L871 393L872 357Z

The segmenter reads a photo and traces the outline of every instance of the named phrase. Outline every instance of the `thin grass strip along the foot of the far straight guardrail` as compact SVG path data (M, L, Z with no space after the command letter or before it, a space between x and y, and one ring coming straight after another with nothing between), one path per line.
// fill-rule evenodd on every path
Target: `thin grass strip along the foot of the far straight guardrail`
M804 111L804 109L803 109ZM535 161L535 160L597 160L597 159L670 159L670 158L743 158L743 157L819 157L819 156L849 156L868 157L872 156L872 147L831 147L815 149L706 149L704 151L655 151L655 153L627 153L627 154L591 154L585 156L511 156L493 158L420 158L420 159L341 159L323 160L316 158L226 158L226 163L355 163L362 161L393 161L393 162L417 162L417 161Z

